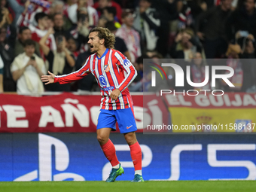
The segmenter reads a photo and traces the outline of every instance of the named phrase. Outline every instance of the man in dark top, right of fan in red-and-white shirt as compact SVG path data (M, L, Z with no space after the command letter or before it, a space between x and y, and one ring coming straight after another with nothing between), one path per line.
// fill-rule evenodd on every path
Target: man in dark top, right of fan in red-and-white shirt
M64 29L64 17L60 13L53 14L53 29L54 36L56 35L64 35L68 36L69 32Z

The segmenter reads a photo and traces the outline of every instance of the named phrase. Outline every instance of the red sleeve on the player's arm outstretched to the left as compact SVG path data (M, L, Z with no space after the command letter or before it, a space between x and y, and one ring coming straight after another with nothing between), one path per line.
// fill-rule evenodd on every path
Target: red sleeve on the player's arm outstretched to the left
M78 71L69 73L68 75L56 75L54 78L54 83L59 82L59 84L69 84L90 74L90 57L91 56L88 57L87 61L84 63L84 66L82 66Z

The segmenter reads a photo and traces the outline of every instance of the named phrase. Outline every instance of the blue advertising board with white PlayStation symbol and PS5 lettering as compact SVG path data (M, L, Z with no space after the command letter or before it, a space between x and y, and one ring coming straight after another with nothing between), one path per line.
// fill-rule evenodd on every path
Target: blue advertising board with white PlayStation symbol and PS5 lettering
M145 180L256 179L254 134L137 134ZM111 134L125 174L132 180L130 148ZM3 133L0 181L102 181L111 165L96 133Z

